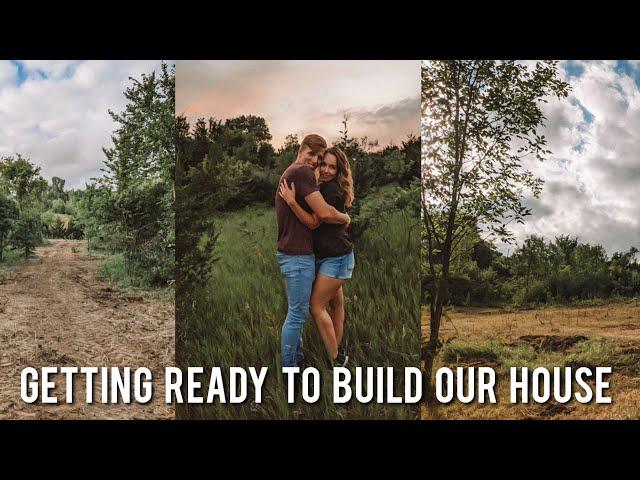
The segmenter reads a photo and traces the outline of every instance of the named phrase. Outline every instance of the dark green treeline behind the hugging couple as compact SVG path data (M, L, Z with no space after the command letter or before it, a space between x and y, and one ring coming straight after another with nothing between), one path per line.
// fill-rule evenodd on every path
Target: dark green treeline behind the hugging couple
M204 281L215 256L216 214L253 203L271 205L282 172L295 160L296 135L274 148L264 118L243 115L227 120L200 118L192 126L176 120L178 268L182 285ZM356 201L350 212L354 237L373 226L383 212L405 207L420 210L420 140L414 135L400 145L378 148L377 141L354 138L345 118L334 145L351 162ZM384 187L384 188L383 188ZM378 193L375 201L364 200Z

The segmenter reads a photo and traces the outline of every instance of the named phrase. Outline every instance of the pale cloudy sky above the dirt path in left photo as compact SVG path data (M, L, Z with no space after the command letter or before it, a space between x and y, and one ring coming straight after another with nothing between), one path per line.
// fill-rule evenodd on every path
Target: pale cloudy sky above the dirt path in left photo
M45 178L83 187L111 145L107 110L124 107L129 77L159 69L159 60L0 61L0 156L20 153Z

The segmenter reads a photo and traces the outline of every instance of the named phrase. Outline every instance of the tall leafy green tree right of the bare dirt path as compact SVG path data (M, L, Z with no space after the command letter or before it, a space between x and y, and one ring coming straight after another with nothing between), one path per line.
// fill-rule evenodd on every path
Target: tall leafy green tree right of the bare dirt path
M85 234L122 253L138 283L166 284L174 277L175 67L131 79L117 128L104 148L104 177L89 187L81 215ZM96 242L90 242L96 243Z

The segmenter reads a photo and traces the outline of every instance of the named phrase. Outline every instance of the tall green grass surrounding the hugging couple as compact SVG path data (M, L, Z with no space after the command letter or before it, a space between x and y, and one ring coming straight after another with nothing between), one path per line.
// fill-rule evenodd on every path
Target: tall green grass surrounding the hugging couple
M345 344L356 366L417 366L419 356L419 230L401 212L365 232L354 247L356 267L346 284ZM269 367L259 405L179 405L178 418L415 419L415 405L332 402L331 372L313 320L304 331L307 358L320 370L315 404L287 404L280 371L280 329L287 311L284 280L275 259L273 208L253 206L224 215L212 280L176 311L180 367ZM402 373L402 372L400 372ZM398 375L396 392L401 392ZM206 385L208 379L203 382Z

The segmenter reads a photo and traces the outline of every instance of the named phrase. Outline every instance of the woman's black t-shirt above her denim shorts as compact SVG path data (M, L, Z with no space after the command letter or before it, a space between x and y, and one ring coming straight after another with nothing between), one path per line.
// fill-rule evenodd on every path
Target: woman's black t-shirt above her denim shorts
M344 192L337 180L321 183L320 193L325 202L345 213ZM313 253L316 258L337 257L349 253L352 249L353 244L345 224L321 223L313 230Z

